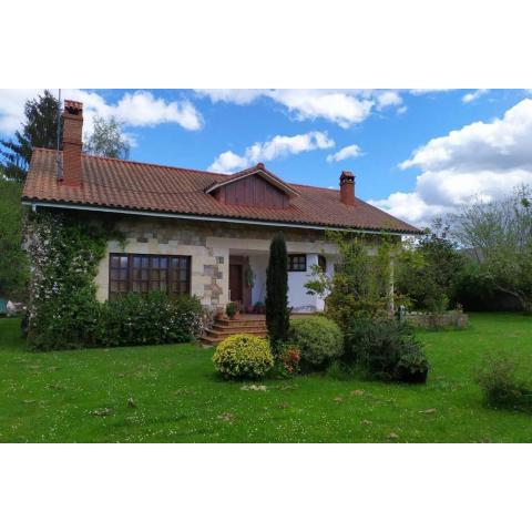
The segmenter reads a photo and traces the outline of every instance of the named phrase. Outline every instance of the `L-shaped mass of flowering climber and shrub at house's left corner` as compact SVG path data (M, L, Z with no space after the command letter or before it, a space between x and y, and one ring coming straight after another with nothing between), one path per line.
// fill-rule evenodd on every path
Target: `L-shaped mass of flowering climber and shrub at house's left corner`
M27 224L32 275L28 342L50 350L190 341L201 332L196 298L130 294L101 304L94 282L109 239L123 235L103 217L38 213Z

